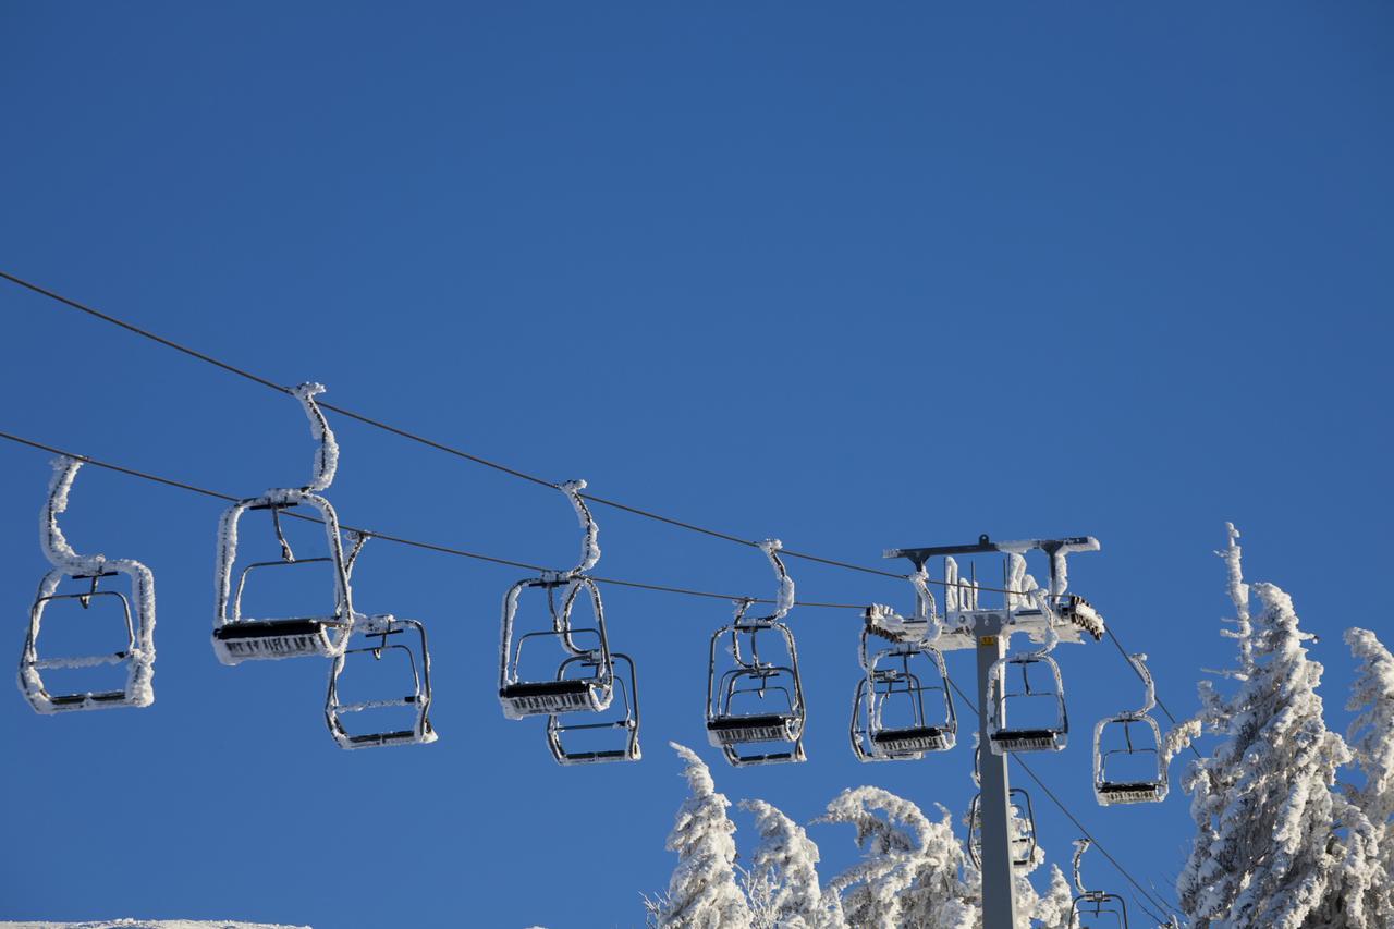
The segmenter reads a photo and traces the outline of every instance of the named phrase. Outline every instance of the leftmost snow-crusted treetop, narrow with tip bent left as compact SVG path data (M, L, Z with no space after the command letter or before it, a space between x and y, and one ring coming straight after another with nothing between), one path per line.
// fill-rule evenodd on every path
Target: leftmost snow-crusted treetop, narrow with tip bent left
M669 745L687 764L683 776L690 795L668 834L677 868L655 905L657 922L683 929L749 929L750 907L736 882L736 824L726 816L730 801L717 792L711 771L696 752L676 742Z

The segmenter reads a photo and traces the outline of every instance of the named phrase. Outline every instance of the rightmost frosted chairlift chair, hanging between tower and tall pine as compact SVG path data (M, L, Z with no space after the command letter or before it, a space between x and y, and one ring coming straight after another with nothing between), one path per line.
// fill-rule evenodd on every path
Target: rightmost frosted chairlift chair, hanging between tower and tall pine
M1147 670L1146 654L1132 654L1128 660L1143 682L1142 707L1103 718L1094 725L1094 796L1104 806L1160 803L1167 799L1167 759L1163 755L1161 728L1150 716L1157 706L1157 688ZM1105 742L1111 746L1105 746ZM1146 764L1146 770L1142 764ZM1119 776L1119 769L1126 773Z

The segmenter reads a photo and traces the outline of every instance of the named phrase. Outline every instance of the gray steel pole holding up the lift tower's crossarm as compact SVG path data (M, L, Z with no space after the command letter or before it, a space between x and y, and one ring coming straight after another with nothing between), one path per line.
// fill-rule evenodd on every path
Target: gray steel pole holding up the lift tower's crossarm
M977 735L979 783L983 798L979 802L983 837L983 929L1013 929L1016 898L1012 893L1011 802L1006 784L1005 755L994 755L987 742L987 709L993 699L988 670L1006 654L1002 617L981 615L977 635Z

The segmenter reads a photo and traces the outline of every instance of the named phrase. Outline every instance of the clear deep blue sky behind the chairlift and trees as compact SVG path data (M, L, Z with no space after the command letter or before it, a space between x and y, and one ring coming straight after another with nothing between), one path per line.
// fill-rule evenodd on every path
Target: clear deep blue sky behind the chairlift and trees
M1195 706L1228 660L1224 520L1296 598L1344 725L1349 624L1390 551L1394 7L10 3L0 266L276 381L553 480L875 564L888 545L1092 533L1075 589ZM0 428L234 494L304 480L296 405L0 286ZM354 423L347 522L533 562L559 494ZM17 656L45 456L0 448ZM158 703L0 700L0 916L629 926L684 788L807 820L874 783L966 806L966 749L859 766L852 614L803 610L810 760L704 746L721 603L606 590L641 764L563 770L493 697L519 572L371 545L360 605L424 619L441 742L344 753L325 668L219 665L219 506L88 469L68 534L149 564ZM598 512L604 573L769 590L763 557ZM905 603L795 562L800 594ZM0 642L3 644L3 642ZM1186 798L1103 810L1085 732L1135 703L1061 649L1078 739L1037 764L1170 884ZM955 674L970 661L951 660ZM1066 861L1073 829L1037 799ZM740 819L749 849L753 830ZM831 870L852 837L813 830ZM1101 861L1090 872L1122 889Z

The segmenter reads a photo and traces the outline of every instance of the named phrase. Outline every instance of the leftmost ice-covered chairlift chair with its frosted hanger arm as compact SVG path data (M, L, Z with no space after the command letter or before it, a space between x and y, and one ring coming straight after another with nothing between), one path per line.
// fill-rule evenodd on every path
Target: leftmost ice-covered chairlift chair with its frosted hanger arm
M130 558L79 555L59 529L59 515L68 508L68 491L82 462L72 458L53 459L49 498L39 523L39 544L53 568L39 582L39 593L29 610L29 633L20 654L18 683L29 706L38 713L100 710L121 706L149 706L155 702L155 576L151 569ZM103 577L124 575L131 583L131 597L118 590L99 590ZM85 582L81 593L59 593L64 580ZM95 656L45 658L39 654L39 632L47 608L54 603L75 600L86 610L93 600L110 601L124 621L125 647ZM134 603L132 603L134 600ZM46 670L92 668L124 664L125 685L120 690L82 690L54 693L43 681ZM50 675L52 677L52 675Z

